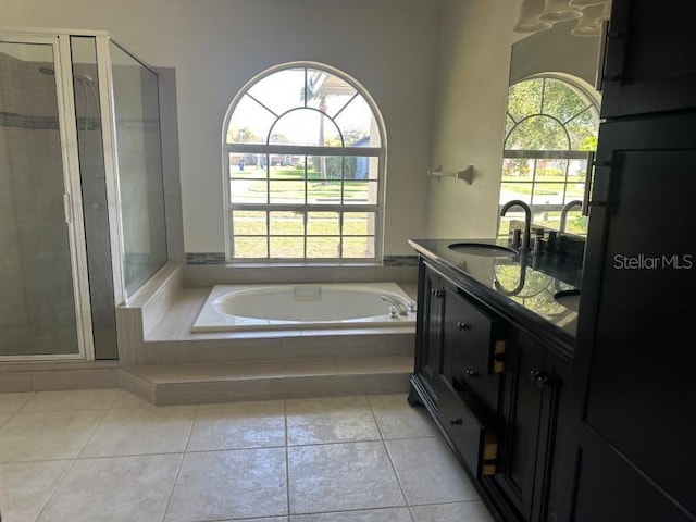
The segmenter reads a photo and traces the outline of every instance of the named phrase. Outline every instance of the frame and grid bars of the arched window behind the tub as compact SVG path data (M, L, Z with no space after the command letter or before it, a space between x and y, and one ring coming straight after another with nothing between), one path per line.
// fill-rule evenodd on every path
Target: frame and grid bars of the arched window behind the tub
M253 88L253 86L260 80L275 74L277 72L284 70L296 70L296 69L304 69L306 70L306 84L307 85L307 72L308 70L316 70L322 71L327 74L334 75L352 88L356 89L356 95L346 102L344 105L347 107L358 95L362 96L368 107L372 111L372 115L376 122L376 128L380 137L380 147L346 147L344 141L344 133L340 129L334 119L343 111L340 109L338 113L336 113L333 117L320 111L316 108L308 107L307 100L298 102L298 105L293 107L288 110L285 110L281 114L275 114L274 111L266 108L269 112L276 116L274 123L270 126L269 133L265 137L265 144L231 144L227 142L227 130L229 128L231 120L235 113L235 110L238 103L245 98L245 96L249 95L249 90ZM256 98L252 95L249 95L252 99ZM259 100L256 100L260 105L265 107ZM341 147L333 147L333 146L302 146L302 145L274 145L270 144L273 129L281 119L298 109L311 109L322 113L325 117L336 125L336 128L339 132L339 136L341 142L344 144ZM307 200L307 186L304 187L304 202L303 203L233 203L232 202L232 170L229 164L229 154L260 154L265 157L265 165L269 171L266 172L266 181L272 179L271 177L271 157L272 156L290 156L290 157L357 157L357 158L375 158L377 160L377 171L376 178L373 182L377 186L376 189L376 202L375 203L349 203L346 204L343 201L338 204L318 204L310 203ZM377 264L382 262L383 259L383 231L384 231L384 200L385 200L385 185L386 185L386 133L384 120L382 119L382 114L380 113L376 103L366 91L366 89L360 85L355 78L348 76L346 73L332 67L330 65L319 63L319 62L310 62L310 61L300 61L300 62L286 62L283 64L278 64L273 66L261 74L254 76L249 82L247 82L241 89L237 92L232 103L227 109L227 113L225 114L225 119L223 122L223 133L222 133L222 154L223 154L223 203L224 203L224 234L225 234L225 259L229 264L330 264L330 265L341 265L341 264ZM307 163L306 163L306 173L307 173ZM307 177L303 178L307 181ZM343 182L345 179L341 176L341 191L343 191ZM266 195L270 194L266 191ZM344 213L350 212L373 212L374 213L374 257L371 258L344 258L343 252L339 252L339 257L336 258L308 258L307 256L302 258L272 258L270 257L270 249L266 250L265 258L235 258L234 257L234 220L233 212L234 211L261 211L266 212L266 216L270 212L273 211L282 211L282 212L298 212L303 214L303 234L298 235L297 237L303 238L304 245L304 254L307 254L307 238L308 237L336 237L336 236L320 236L308 234L307 232L307 215L309 212L332 212L338 213L338 240L343 243L345 237L371 237L368 236L345 236L343 234L343 215ZM270 245L271 235L270 229L270 219L266 217L266 231L265 235L260 235L258 237L265 237L268 245ZM244 237L254 237L254 236L244 236ZM285 236L275 236L275 237L285 237Z

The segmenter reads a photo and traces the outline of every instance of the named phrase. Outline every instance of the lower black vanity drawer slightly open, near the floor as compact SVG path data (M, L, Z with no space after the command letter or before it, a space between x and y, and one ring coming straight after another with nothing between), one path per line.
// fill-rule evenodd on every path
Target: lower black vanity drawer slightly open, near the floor
M495 475L498 444L493 423L445 378L437 387L437 415L464 462L475 476Z

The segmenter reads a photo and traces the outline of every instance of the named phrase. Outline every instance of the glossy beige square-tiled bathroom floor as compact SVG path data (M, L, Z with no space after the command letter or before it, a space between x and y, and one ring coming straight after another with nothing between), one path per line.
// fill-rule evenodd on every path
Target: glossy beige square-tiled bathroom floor
M153 407L0 394L3 522L492 522L403 395Z

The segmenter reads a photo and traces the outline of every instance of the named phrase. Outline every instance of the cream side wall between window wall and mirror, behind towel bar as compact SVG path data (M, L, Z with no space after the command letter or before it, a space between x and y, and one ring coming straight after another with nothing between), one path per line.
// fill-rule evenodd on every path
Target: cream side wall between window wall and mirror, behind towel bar
M428 237L494 237L517 0L447 0L432 164L473 164L472 185L428 182Z

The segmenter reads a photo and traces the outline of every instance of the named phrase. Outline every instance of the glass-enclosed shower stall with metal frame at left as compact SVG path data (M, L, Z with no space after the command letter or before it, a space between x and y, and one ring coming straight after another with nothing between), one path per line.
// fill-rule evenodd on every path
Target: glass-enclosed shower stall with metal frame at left
M159 111L108 34L0 30L0 362L117 358L167 261Z

